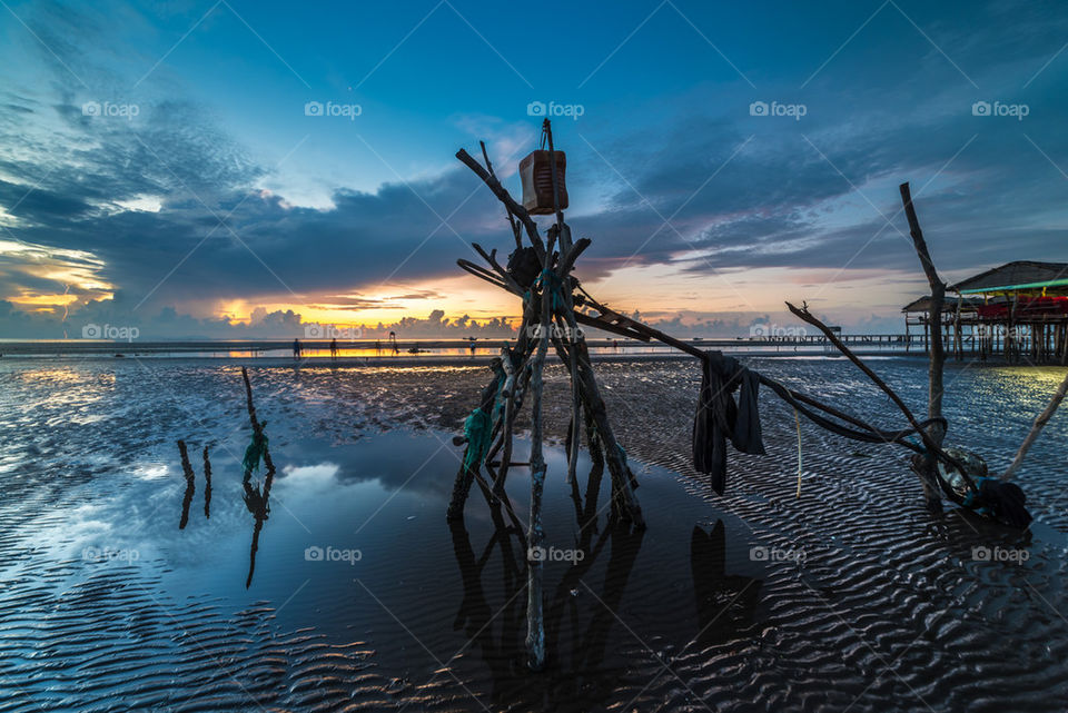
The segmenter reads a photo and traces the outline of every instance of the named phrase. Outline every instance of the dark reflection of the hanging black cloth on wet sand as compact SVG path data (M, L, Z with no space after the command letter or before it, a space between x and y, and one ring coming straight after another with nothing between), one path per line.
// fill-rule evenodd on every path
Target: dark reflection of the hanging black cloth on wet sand
M690 570L698 606L696 643L730 641L756 620L762 581L726 573L726 529L722 519L715 521L711 533L694 526Z

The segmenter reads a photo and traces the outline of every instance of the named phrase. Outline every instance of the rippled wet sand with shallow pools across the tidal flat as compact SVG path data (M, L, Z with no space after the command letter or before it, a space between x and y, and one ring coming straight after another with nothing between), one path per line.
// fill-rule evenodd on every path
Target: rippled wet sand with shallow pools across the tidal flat
M900 423L848 364L749 364ZM923 403L921 362L874 364ZM449 438L484 367L250 369L279 473L246 588L255 516L235 365L2 365L0 711L1064 710L1065 418L1020 474L1037 516L1021 535L931 518L902 452L803 422L795 497L793 414L768 394L769 455L732 453L718 497L689 465L695 365L597 368L650 527L584 521L606 483L593 504L584 461L573 498L551 452L548 543L584 557L547 567L550 669L535 676L518 538L477 493L462 527L444 521ZM1003 467L1062 373L952 367L950 440ZM560 439L558 366L546 403ZM196 472L184 529L177 438ZM521 517L524 475L510 483ZM314 547L360 557L306 558ZM1027 559L977 561L973 547Z

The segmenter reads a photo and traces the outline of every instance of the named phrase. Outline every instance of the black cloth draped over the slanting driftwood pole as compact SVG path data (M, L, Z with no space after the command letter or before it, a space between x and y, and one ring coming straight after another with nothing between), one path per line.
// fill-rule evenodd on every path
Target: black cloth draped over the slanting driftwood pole
M742 453L764 455L760 433L760 379L733 357L709 353L693 418L693 467L708 473L720 495L726 487L726 442ZM738 402L734 392L739 392Z

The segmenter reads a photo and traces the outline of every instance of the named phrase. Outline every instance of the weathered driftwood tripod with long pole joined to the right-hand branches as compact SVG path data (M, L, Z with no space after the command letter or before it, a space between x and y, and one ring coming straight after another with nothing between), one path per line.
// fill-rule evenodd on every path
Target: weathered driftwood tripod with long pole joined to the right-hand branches
M523 317L514 346L503 347L500 357L493 362L493 378L483 389L477 408L467 417L464 425L464 436L454 439L456 445L466 444L466 448L463 464L456 474L448 506L447 517L451 522L455 523L463 518L464 506L471 487L473 484L477 484L491 506L491 512L497 513L495 518L502 517L500 507L503 506L516 531L521 532L522 525L505 495L504 485L513 466L525 465L530 467L531 472L531 506L526 537L522 541L527 546L528 552L542 546L545 538L542 526L542 492L546 477L542 420L543 370L550 348L552 348L553 353L566 365L571 377L571 424L566 444L566 477L568 483L572 484L573 492L577 492L574 482L575 464L582 432L585 430L589 447L592 450L600 452L609 469L611 477L611 519L614 526L634 532L645 528L642 509L634 493L637 483L627 466L626 455L616 442L612 430L582 327L594 327L642 341L655 339L701 359L706 380L711 375L714 383L720 384L720 387L716 393L708 394L706 398L705 385L702 386L702 399L695 419L695 438L698 433L696 422L700 422L702 417L709 419L709 423L714 422L713 430L719 427L726 428L728 424L723 423L722 413L718 413L715 418L702 416L702 409L710 407L721 396L721 392L726 392L730 395L743 383L745 384L745 386L742 386L743 389L755 389L755 386L760 385L770 388L778 397L791 405L795 413L805 416L832 433L866 443L898 444L912 450L913 469L920 476L928 506L932 511L941 508L939 491L950 499L968 506L972 506L972 497L977 502L981 502L982 493L986 493L986 486L977 485L977 478L972 477L979 475L975 467L973 456L942 447L947 424L941 412L945 354L940 340L934 339L931 343L928 414L924 420L919 420L904 402L859 357L850 351L834 330L813 316L807 307L798 308L788 303L788 307L795 316L818 327L831 344L849 357L901 409L908 420L908 427L900 430L886 430L876 428L857 416L790 389L764 375L750 373L743 368L739 369L733 359L719 351L703 351L692 344L676 339L614 311L594 299L572 275L576 260L591 241L589 238L574 239L571 228L564 221L563 208L566 207L566 194L563 192L564 177L558 175L558 167L564 164L562 157L556 154L553 145L552 127L547 119L543 122L542 146L543 154L547 149L547 160L544 161L544 165L548 167L547 170L550 171L552 200L550 209L538 212L551 215L553 218L552 225L545 230L544 237L542 230L531 217L531 211L523 204L516 201L501 185L490 161L485 143L482 143L482 164L463 149L456 154L456 158L467 166L503 204L515 242L515 250L511 254L507 266L500 264L495 249L487 252L477 244L474 244L473 247L485 260L485 265L465 259L457 260L457 264L475 277L491 283L521 299ZM524 164L526 162L527 160L524 161ZM523 165L521 165L521 170L522 168ZM562 196L564 196L563 200ZM901 197L917 255L931 285L931 329L934 334L940 334L939 320L942 315L946 285L938 277L928 251L909 195L908 184L901 186ZM526 201L524 200L524 202ZM1058 393L1060 398L1062 398L1066 388L1068 388L1068 379ZM517 464L512 459L515 419L517 413L526 403L530 403L532 409L530 458L526 464ZM1055 398L1050 408L1036 422L1032 434L1025 442L1025 446L1021 447L1018 461L1022 458L1027 447L1034 442L1049 416L1052 415L1052 409L1056 409L1058 403L1059 398ZM722 402L718 404L718 409L721 404ZM731 403L731 406L734 406L733 403ZM583 426L585 427L583 428ZM733 422L730 426L733 427ZM722 446L723 436L719 435L719 438L721 438L720 445ZM731 440L735 447L742 447L733 434ZM755 452L759 452L759 449ZM696 461L696 444L694 454ZM722 448L719 457L723 458L722 463L725 466L725 454L722 453ZM981 463L981 459L979 463ZM1006 475L1010 475L1017 465L1013 464L1013 467ZM488 479L483 475L483 469L488 475ZM947 473L956 474L952 482L958 484L961 489L955 491L947 485L945 478ZM985 464L981 475L986 475ZM981 479L993 481L996 478ZM715 487L714 482L713 486ZM722 483L716 489L721 488ZM545 664L542 572L542 561L537 557L528 557L526 566L526 650L527 663L534 670L540 670Z

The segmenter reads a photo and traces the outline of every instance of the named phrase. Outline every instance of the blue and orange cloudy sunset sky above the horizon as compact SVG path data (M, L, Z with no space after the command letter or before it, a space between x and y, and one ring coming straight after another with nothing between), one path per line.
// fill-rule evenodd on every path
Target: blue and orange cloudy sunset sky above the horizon
M576 269L683 335L900 333L948 281L1068 261L1068 6L0 0L0 338L505 331L545 112ZM547 221L541 220L544 227Z

